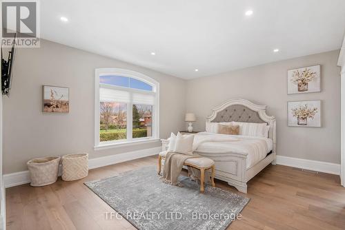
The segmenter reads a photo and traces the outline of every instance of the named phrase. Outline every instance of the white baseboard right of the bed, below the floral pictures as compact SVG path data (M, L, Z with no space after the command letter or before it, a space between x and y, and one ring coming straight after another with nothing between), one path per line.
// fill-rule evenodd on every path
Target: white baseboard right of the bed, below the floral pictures
M306 160L302 158L293 158L288 156L276 156L277 165L286 165L299 169L308 169L320 171L327 174L340 175L340 165L317 160Z

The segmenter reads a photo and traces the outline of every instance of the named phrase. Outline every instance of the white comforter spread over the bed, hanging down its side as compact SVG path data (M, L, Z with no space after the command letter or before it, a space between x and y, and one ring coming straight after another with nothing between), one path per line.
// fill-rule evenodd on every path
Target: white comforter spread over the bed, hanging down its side
M273 141L259 136L241 136L200 132L195 134L193 149L207 153L247 155L246 169L256 165L273 149Z

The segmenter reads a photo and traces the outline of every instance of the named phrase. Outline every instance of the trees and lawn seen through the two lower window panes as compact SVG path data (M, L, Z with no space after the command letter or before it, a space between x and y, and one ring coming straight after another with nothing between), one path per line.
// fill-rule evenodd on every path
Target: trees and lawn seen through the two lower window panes
M127 138L127 104L100 103L99 140ZM152 105L132 105L132 138L152 136Z

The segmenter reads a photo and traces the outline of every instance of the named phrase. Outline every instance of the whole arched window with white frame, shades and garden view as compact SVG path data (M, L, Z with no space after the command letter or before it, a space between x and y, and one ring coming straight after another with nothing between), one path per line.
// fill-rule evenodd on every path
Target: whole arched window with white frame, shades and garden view
M159 138L159 83L116 68L96 70L95 148Z

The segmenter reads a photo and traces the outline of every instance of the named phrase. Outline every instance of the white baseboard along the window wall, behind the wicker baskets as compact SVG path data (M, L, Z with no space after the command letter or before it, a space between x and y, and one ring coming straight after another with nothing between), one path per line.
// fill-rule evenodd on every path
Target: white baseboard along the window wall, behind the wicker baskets
M88 167L89 169L96 169L107 165L114 165L128 160L135 160L146 156L157 155L159 151L161 151L161 147L130 151L124 154L101 156L99 158L91 158L88 161ZM61 176L61 167L59 169L59 176ZM27 183L30 183L30 174L28 170L3 175L3 184L6 188L14 187L17 185L24 185Z

